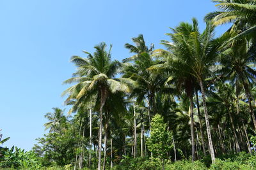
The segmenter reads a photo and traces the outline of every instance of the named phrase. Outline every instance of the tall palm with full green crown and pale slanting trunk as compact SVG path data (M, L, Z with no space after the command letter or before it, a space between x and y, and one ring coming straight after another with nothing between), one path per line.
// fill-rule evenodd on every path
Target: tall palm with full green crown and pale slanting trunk
M188 30L188 28L192 29L193 27L195 30ZM168 41L163 41L163 43L171 52L160 50L158 55L163 55L166 58L169 58L171 61L179 61L177 63L183 62L182 65L180 65L180 67L182 67L181 69L184 69L185 73L188 70L188 73L193 76L193 78L195 78L197 83L200 85L209 149L212 162L214 162L215 155L212 145L209 116L205 101L204 80L212 75L211 67L214 66L218 55L220 55L222 43L225 42L228 37L224 35L220 38L213 39L214 25L212 25L211 22L207 22L206 29L201 34L198 31L198 22L195 18L193 18L193 25L181 24L178 29L173 29L173 34L168 35L171 36L173 42L169 43ZM179 53L177 53L178 55L176 55L175 51L179 51ZM182 55L182 53L186 53L186 55Z

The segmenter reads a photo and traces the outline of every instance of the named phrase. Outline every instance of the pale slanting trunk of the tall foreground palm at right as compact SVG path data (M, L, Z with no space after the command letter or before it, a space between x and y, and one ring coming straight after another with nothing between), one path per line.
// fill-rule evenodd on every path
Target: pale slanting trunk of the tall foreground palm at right
M210 129L208 111L207 111L206 102L205 102L204 85L203 85L202 79L199 80L199 83L200 83L203 105L204 105L205 124L206 124L207 136L208 136L209 149L210 149L212 163L214 163L215 162L215 154L214 154L214 149L213 149L213 145L212 145L211 129Z

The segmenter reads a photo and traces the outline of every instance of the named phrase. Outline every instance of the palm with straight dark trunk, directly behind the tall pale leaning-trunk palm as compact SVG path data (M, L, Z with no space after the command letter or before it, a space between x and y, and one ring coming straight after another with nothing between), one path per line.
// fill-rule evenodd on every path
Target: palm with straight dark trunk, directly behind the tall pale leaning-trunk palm
M195 90L196 78L191 76L193 72L190 64L191 58L183 60L186 56L191 55L188 50L184 50L186 42L183 41L184 37L188 38L191 32L198 32L198 23L193 19L193 25L182 22L178 27L172 29L173 34L168 34L172 38L173 43L169 41L162 41L162 44L166 46L169 51L166 50L155 50L154 55L163 57L165 61L163 64L153 66L151 69L157 69L163 73L167 71L169 73L168 81L175 83L175 87L178 92L182 92L184 89L186 95L189 97L190 102L190 119L191 119L191 143L192 143L192 160L195 160L195 132L194 132L194 113L193 113L193 94ZM183 43L183 44L182 44ZM178 45L179 44L179 45ZM182 46L183 45L183 46ZM159 55L160 54L160 55ZM183 55L183 57L181 57ZM170 83L169 82L169 83ZM168 83L168 82L166 82Z

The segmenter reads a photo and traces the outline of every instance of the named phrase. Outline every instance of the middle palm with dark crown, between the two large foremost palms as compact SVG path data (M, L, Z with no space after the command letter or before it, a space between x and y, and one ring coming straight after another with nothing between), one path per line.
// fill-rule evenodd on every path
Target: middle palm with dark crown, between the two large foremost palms
M136 46L127 43L125 44L125 48L128 48L130 52L136 54L123 60L124 62L133 62L123 64L123 78L136 81L137 86L132 90L130 97L136 97L139 103L143 101L143 99L148 100L148 120L150 127L151 115L156 113L155 94L160 90L159 87L163 84L164 77L163 75L152 73L148 70L151 66L159 64L159 60L153 59L150 55L154 45L148 48L141 34L138 38L132 38L132 41L134 41Z

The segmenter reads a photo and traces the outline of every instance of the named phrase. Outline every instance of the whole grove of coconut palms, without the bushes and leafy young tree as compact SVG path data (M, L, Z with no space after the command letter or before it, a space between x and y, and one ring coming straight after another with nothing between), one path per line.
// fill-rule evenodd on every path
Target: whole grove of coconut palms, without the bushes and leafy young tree
M156 113L173 132L174 150L168 153L173 160L211 155L214 162L216 155L252 153L256 3L215 2L220 11L205 17L203 32L195 18L191 24L182 22L166 34L170 41L161 41L165 49L148 47L140 34L132 38L134 45L125 44L133 55L122 62L111 59L112 46L108 49L106 43L96 45L94 53L84 51L85 58L71 58L77 71L64 82L72 86L63 95L72 106L69 113L76 113L81 135L90 134L83 148L89 150L89 166L92 157L98 159L98 169L105 169L127 155L150 156L147 138ZM216 25L228 22L232 27L216 38ZM55 115L46 115L52 122L45 126L60 132L66 120L61 110L54 110ZM77 157L81 167L84 156Z

